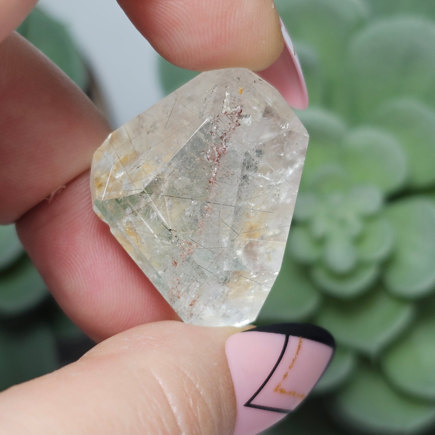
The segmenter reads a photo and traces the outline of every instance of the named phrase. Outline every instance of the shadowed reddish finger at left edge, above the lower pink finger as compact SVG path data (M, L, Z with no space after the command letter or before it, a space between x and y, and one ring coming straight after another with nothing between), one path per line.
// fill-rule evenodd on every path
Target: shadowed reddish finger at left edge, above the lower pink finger
M65 74L13 33L0 45L0 131L5 224L85 171L110 129Z

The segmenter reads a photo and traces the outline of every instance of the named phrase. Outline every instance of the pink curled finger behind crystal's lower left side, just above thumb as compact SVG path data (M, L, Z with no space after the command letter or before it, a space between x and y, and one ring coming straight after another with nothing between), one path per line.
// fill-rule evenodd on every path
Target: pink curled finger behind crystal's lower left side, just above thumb
M178 319L94 213L89 171L17 222L24 248L59 305L95 341Z

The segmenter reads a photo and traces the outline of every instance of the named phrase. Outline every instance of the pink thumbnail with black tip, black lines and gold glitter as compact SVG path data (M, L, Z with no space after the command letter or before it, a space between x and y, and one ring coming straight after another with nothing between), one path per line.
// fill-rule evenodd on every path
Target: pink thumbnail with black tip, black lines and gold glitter
M238 332L225 344L237 401L234 435L255 435L293 411L335 350L318 326L281 323Z

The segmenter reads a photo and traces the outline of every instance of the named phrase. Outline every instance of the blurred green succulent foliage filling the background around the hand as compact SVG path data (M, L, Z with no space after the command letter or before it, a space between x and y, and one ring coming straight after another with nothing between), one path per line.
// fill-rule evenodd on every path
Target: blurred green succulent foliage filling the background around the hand
M283 268L258 324L338 343L310 398L268 434L435 433L435 1L275 0L308 84L310 134ZM90 93L64 28L20 32ZM53 37L56 35L56 37ZM195 75L159 60L169 93ZM92 345L0 227L0 389Z

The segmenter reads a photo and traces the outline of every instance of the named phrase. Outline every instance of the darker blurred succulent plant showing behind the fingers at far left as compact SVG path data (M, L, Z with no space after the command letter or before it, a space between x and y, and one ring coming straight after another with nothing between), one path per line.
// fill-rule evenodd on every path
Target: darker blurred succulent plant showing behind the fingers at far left
M87 89L85 64L62 24L36 9L18 31ZM89 344L50 296L15 226L0 226L0 391L77 359Z

